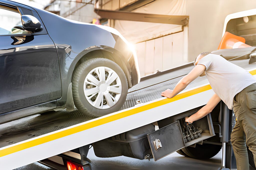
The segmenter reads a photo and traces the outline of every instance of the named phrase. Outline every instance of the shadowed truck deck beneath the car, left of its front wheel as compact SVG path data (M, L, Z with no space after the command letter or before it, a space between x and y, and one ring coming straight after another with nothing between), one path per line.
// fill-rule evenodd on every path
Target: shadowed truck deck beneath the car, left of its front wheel
M59 129L76 125L96 117L86 111L49 111L0 125L0 148Z

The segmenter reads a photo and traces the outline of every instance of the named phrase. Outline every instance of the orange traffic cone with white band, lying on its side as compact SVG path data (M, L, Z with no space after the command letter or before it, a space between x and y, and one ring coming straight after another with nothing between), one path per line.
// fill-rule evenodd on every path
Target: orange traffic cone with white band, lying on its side
M245 44L245 39L240 36L236 36L229 32L225 32L224 36L221 38L219 49L227 48L246 48L251 47L250 45Z

